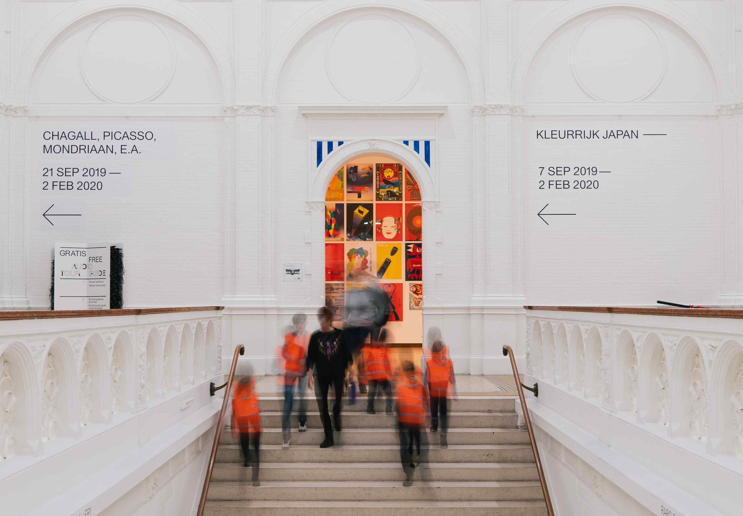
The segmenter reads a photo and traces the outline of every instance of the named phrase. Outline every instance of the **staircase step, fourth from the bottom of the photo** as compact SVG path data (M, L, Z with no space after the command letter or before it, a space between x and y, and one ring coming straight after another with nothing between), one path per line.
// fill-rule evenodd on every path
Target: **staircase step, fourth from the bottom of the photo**
M336 433L338 434L338 433ZM337 442L343 439L340 432ZM239 445L221 445L217 448L216 462L241 462ZM496 445L450 445L449 448L433 447L426 449L427 460L435 463L533 463L531 445L496 444ZM340 445L333 448L319 448L319 445L292 445L283 449L281 445L262 445L261 460L267 463L363 463L395 462L400 460L398 445Z

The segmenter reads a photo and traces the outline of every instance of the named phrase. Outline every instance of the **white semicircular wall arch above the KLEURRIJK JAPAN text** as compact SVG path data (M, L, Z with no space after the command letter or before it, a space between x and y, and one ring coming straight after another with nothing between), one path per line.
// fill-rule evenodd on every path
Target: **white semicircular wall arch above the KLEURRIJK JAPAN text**
M525 104L716 102L698 42L671 20L632 7L592 10L557 27L528 64Z

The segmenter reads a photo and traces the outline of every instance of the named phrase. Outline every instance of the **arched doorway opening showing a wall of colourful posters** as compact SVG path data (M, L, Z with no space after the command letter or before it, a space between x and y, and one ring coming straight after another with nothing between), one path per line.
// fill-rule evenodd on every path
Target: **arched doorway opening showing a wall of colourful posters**
M418 179L382 153L338 166L325 191L325 306L343 319L349 290L378 281L398 347L423 342L423 213Z

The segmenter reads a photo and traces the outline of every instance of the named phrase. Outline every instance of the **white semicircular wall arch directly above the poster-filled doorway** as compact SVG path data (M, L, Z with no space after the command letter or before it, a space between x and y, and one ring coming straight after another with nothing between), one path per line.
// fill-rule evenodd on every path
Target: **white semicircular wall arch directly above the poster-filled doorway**
M449 47L400 11L341 13L294 46L277 78L278 103L469 102L469 75Z

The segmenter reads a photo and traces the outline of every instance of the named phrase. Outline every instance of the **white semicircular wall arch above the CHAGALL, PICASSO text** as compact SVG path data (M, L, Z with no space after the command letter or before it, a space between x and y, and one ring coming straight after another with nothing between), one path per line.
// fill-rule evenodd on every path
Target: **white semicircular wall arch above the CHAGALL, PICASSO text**
M198 36L135 8L62 30L30 80L31 104L221 104L222 97L221 74Z

